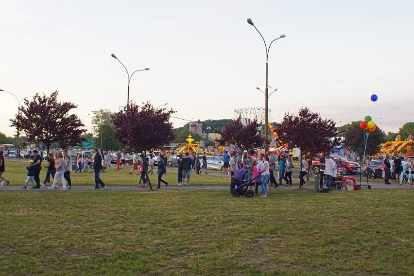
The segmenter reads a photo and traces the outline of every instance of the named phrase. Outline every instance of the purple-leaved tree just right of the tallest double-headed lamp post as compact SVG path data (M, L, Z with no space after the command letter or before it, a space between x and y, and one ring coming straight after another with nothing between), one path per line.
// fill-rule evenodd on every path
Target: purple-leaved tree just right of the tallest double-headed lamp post
M278 131L280 139L289 147L300 149L300 162L303 154L313 156L339 144L335 122L322 119L319 113L311 112L307 107L301 107L297 115L285 113ZM301 177L299 188L302 184Z

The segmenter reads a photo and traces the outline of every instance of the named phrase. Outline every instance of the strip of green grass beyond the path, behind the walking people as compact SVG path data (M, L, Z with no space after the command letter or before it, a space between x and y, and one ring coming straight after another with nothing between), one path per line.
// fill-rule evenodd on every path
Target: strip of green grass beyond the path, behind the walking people
M5 162L5 173L6 177L10 181L10 185L22 186L26 180L27 171L26 171L26 162L24 161L8 161ZM43 163L42 163L43 164ZM150 175L151 183L158 184L158 174L155 173ZM116 170L116 165L112 165L110 169L107 169L105 173L101 174L102 180L110 186L135 186L139 182L139 175L136 175L137 171L134 171L132 175L129 175L128 171L132 170L132 166L129 167L129 170ZM169 172L170 171L170 172ZM40 171L40 181L43 183L46 177L47 169L43 166ZM70 173L70 178L73 185L78 186L87 186L95 185L95 179L92 173L75 173L75 171ZM209 173L216 174L195 174L192 173L190 177L190 185L192 186L224 186L229 185L230 176L224 175L221 171L208 171ZM167 167L167 174L163 176L163 179L170 184L175 185L177 183L177 167ZM52 179L51 179L52 181ZM60 183L60 179L58 180Z

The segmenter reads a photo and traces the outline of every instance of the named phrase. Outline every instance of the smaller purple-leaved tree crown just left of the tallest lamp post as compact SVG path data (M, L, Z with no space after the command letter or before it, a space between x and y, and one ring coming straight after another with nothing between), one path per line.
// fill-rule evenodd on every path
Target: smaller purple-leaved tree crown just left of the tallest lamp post
M221 138L219 143L236 144L242 149L251 150L263 146L264 138L260 135L261 123L257 119L251 121L248 125L243 126L240 122L241 117L234 120L232 123L225 125L222 131L218 132Z

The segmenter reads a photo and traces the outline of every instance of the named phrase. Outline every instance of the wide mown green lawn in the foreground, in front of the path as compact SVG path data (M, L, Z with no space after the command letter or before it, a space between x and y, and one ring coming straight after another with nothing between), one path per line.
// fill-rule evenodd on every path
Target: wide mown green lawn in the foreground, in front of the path
M413 190L0 196L0 275L413 275Z

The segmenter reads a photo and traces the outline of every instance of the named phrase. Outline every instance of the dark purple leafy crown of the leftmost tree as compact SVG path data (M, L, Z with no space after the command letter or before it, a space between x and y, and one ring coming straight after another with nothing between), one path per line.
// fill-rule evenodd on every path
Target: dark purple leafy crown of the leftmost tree
M59 142L61 147L79 144L86 130L82 129L85 125L76 115L69 114L76 105L60 103L57 96L58 91L50 97L36 93L31 102L24 100L20 113L10 120L10 126L17 128L17 134L23 131L29 142L45 144L48 151L53 142Z

